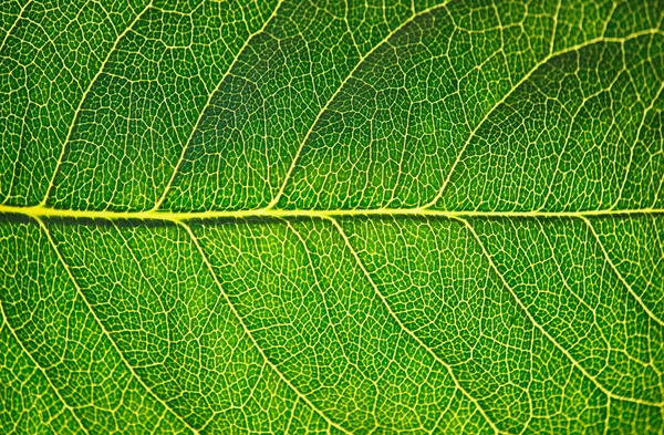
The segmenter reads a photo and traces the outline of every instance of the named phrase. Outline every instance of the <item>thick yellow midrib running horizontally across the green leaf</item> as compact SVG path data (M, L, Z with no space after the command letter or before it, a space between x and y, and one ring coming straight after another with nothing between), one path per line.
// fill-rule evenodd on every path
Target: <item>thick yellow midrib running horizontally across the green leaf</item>
M340 209L340 210L284 210L284 209L250 209L250 210L218 210L218 211L95 211L95 210L65 210L44 206L19 207L0 205L0 214L23 215L33 218L73 218L73 219L146 219L183 221L191 219L224 219L224 218L334 218L344 216L423 216L423 217L521 217L521 218L552 218L568 217L582 218L594 216L620 215L658 215L664 214L662 208L639 208L633 210L583 210L583 211L447 211L430 208L373 208L373 209Z

